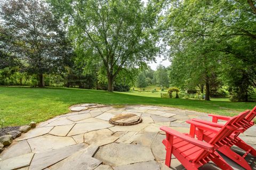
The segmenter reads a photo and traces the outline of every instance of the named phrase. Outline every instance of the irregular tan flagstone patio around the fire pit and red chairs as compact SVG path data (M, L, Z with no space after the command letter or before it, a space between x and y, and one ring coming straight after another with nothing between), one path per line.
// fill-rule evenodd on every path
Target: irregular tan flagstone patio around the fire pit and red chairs
M187 119L211 120L207 114L169 107L125 106L114 108L100 104L79 104L66 115L39 123L22 134L0 154L0 169L95 169L166 170L184 169L173 157L172 168L164 165L165 135L159 127L171 126L189 132ZM108 123L118 114L135 114L142 123L114 126ZM241 138L256 147L256 126ZM237 148L233 148L241 152ZM234 169L243 169L225 158ZM256 158L246 159L256 169ZM209 163L202 170L218 169Z

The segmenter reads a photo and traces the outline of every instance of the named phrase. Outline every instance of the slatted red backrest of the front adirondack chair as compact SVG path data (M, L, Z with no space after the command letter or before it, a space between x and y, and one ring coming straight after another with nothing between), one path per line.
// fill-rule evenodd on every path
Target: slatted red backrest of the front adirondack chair
M243 127L244 124L241 124L241 121L249 114L250 110L246 110L241 112L238 116L231 117L228 122L222 126L220 131L209 141L210 144L215 146L215 149L222 147L225 144L230 143L233 139L230 135L236 131L236 129ZM193 160L193 162L202 162L205 164L207 160L211 160L211 154L206 150L203 150L201 153L198 154L198 157Z

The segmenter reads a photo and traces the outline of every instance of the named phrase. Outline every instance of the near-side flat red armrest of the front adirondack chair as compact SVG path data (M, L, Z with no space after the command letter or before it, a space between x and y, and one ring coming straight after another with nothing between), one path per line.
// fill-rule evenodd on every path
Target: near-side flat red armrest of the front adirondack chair
M160 127L160 129L162 131L172 135L172 136L178 137L179 139L182 139L182 140L187 141L189 143L195 144L195 145L197 145L198 147L200 147L204 150L207 150L209 152L214 152L214 146L209 144L209 143L196 140L193 137L182 134L182 133L180 133L178 131L175 131L175 130L169 128L169 127L162 126L162 127Z

